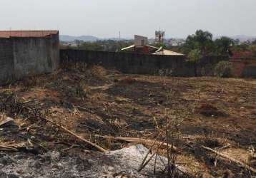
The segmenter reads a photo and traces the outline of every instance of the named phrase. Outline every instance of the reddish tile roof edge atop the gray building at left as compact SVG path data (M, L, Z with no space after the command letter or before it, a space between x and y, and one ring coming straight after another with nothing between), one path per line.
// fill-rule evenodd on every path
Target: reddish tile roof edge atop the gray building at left
M0 31L0 38L11 37L45 37L56 35L59 31Z

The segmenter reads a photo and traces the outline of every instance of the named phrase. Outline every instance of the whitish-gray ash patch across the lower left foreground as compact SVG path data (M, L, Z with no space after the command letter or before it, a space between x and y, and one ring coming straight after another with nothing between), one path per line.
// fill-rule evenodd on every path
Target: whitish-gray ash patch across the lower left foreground
M152 175L154 160L142 172L139 164L147 154L143 145L134 145L107 153L61 156L59 152L30 155L22 152L0 155L0 177L145 177ZM167 159L162 157L167 162ZM158 160L157 169L164 169Z

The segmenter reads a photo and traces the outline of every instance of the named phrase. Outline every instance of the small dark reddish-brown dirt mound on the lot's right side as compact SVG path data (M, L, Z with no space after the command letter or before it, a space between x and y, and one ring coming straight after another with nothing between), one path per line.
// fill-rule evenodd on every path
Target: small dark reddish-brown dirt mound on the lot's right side
M221 110L216 108L214 105L210 105L207 103L203 103L202 105L200 105L200 107L197 108L197 111L201 115L205 115L207 117L222 117L227 115L225 114L225 112L222 112Z

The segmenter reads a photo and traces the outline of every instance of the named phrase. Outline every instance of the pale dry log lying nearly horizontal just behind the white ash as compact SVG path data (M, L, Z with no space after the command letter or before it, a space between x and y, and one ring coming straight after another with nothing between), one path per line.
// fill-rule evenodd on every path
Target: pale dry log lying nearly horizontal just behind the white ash
M124 141L124 142L138 142L138 143L145 143L149 145L161 145L161 147L168 147L174 151L177 151L177 147L173 145L167 145L166 142L159 142L155 140L149 140L149 139L144 139L144 138L137 138L137 137L110 137L110 136L102 136L102 135L97 135L98 137L102 137L104 139L112 139L112 140L119 140L119 141Z

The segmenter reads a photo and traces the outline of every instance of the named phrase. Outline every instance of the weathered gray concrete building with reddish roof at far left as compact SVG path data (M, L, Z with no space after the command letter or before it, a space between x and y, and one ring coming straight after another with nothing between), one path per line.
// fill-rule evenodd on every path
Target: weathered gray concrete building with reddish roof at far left
M59 67L59 31L0 31L0 81Z

